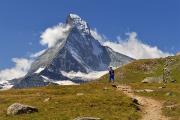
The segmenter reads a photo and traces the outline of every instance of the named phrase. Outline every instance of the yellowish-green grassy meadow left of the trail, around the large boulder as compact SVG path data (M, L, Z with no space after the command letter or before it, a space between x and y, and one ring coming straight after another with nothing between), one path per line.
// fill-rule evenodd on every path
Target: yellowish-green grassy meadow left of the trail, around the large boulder
M49 102L43 102L49 97ZM6 115L7 107L14 102L36 106L39 112ZM99 82L0 92L0 120L72 120L79 116L99 117L103 120L136 120L140 117L136 109L130 98L111 85Z

